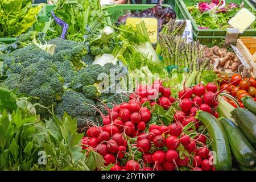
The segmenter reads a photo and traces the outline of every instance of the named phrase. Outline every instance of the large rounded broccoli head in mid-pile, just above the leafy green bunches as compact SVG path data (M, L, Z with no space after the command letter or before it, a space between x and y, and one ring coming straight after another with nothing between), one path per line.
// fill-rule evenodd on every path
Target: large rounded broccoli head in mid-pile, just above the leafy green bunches
M53 108L57 105L63 94L63 82L57 74L56 65L49 60L40 60L24 68L20 73L19 93L38 97L32 101L39 102L43 106ZM39 114L47 114L48 110L36 107Z

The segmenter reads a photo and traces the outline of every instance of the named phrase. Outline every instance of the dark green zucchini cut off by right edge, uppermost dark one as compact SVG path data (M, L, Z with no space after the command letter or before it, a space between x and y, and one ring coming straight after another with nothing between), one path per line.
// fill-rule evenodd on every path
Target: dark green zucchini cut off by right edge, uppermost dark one
M243 134L245 134L245 137L256 147L256 116L241 107L234 109L231 115Z

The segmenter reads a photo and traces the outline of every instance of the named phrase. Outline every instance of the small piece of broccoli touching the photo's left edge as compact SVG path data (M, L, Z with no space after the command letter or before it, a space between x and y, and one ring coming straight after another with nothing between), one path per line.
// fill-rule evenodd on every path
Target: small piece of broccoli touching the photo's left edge
M5 87L11 91L18 90L19 89L19 77L20 75L18 73L13 73L9 75L5 81L0 83L1 87Z

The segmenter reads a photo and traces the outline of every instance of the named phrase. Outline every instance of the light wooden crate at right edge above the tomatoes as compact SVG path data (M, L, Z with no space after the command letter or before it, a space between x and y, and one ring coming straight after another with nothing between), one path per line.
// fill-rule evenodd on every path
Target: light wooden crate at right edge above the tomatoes
M240 38L237 39L237 48L243 58L250 65L249 72L256 77L256 38Z

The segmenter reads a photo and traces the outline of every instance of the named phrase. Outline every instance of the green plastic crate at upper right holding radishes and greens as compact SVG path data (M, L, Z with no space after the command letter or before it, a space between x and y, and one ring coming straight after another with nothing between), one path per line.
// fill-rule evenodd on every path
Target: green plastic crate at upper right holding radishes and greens
M213 47L215 45L224 44L224 39L226 36L226 31L224 30L216 30L216 29L208 29L208 30L200 30L199 26L197 26L195 20L192 18L191 14L189 13L187 6L195 5L198 2L202 2L201 0L175 0L175 12L180 19L189 19L191 20L192 27L193 27L193 36L195 40L199 40L201 44L206 45L208 47ZM205 2L210 2L205 1ZM251 3L247 0L228 0L226 3L245 3L245 7L247 9L252 9L256 12L256 9ZM246 30L243 34L239 36L256 36L256 29Z

